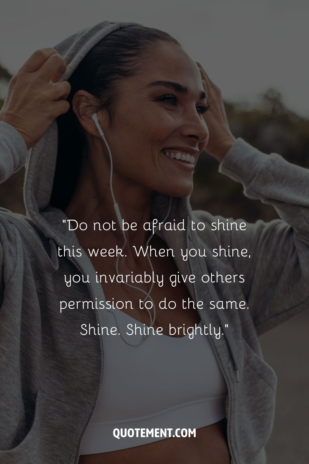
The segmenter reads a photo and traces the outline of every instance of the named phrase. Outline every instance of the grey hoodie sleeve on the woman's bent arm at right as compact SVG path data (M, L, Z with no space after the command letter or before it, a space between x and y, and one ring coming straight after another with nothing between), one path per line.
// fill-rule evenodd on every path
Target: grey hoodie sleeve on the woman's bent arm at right
M309 307L309 169L237 139L219 172L241 182L248 198L274 206L281 218L246 223L245 231L220 237L223 246L251 255L230 260L244 274L243 291L261 335Z

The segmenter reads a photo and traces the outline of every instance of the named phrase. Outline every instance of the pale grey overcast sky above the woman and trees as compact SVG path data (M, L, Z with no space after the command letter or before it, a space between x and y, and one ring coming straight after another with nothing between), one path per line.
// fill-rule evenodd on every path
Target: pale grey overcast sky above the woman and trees
M13 0L0 11L0 63L12 73L81 29L132 21L179 40L226 101L255 104L275 88L309 117L308 0Z

